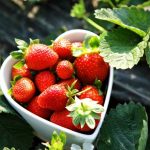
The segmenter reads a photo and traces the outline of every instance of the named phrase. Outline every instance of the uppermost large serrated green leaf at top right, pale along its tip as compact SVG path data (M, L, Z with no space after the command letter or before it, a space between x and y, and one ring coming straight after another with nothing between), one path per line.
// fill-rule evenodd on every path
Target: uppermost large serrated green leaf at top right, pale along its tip
M95 11L95 17L127 28L144 37L150 25L150 12L136 7L122 7Z

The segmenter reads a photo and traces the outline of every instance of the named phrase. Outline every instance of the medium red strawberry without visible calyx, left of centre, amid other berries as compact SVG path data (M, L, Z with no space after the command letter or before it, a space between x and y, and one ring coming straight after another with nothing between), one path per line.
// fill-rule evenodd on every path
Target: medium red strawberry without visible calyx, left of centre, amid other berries
M35 76L35 84L40 92L55 84L55 76L50 71L42 71Z

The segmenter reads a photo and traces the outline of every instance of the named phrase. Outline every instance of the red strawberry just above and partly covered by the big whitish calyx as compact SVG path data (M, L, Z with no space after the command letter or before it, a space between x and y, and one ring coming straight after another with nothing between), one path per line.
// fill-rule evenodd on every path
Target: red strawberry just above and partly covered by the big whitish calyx
M89 89L89 90L86 91L86 89ZM82 91L85 91L85 92L79 96L80 99L90 98L94 101L98 101L98 103L101 105L103 104L104 97L103 95L99 94L99 91L96 89L96 87L92 85L87 85L82 88Z

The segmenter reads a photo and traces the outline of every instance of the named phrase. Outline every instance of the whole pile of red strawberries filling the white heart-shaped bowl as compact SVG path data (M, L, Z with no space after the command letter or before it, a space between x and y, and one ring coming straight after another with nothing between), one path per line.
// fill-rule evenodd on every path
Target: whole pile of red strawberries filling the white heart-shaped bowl
M16 40L18 51L11 52L17 63L12 67L11 96L30 112L77 132L93 130L103 111L100 86L109 66L98 52L73 56L83 42L67 39L52 45ZM10 92L9 91L9 92Z

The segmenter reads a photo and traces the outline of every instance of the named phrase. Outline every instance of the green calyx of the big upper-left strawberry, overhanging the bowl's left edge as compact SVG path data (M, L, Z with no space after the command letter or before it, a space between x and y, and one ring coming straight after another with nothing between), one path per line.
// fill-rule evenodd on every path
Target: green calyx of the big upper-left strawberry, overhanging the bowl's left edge
M27 42L25 42L24 40L20 40L20 39L15 39L15 42L16 42L17 48L18 48L19 50L12 51L12 52L10 53L10 55L11 55L14 59L23 60L27 48L28 48L30 45L32 45L32 44L38 44L38 43L39 43L39 39L34 39L34 40L30 39L30 43L29 43L29 44L28 44Z

